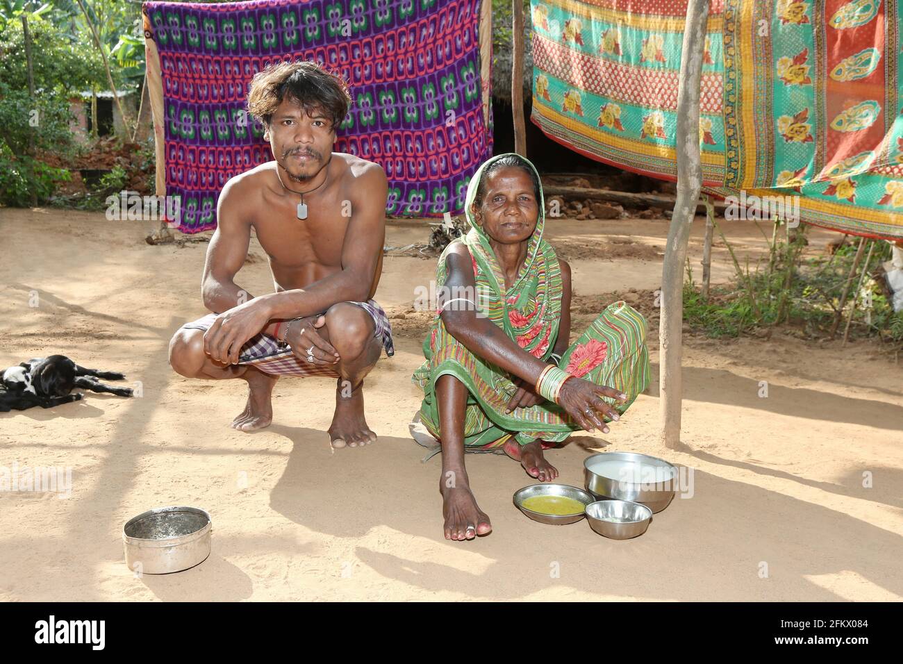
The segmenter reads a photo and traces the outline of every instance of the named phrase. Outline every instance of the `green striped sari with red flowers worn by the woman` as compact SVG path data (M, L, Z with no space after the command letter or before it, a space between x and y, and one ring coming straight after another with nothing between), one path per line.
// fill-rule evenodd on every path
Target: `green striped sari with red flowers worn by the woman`
M470 211L482 174L489 164L502 156L505 155L499 154L484 162L470 180L465 202L470 230L464 238L454 242L463 243L470 251L480 313L487 315L525 352L540 360L549 360L558 339L563 284L561 265L554 248L543 238L545 200L542 187L536 229L528 240L524 265L510 288L505 287L505 278L489 245L489 237L476 224ZM535 171L533 164L527 164ZM450 244L442 252L436 267L439 289L447 278L445 258L451 248ZM646 334L646 320L640 313L623 302L611 304L563 353L559 366L574 376L627 394L628 400L623 404L614 404L612 399L607 399L623 413L649 382ZM413 380L424 390L421 420L436 438L441 438L441 432L435 384L445 374L461 380L468 389L464 436L469 447L498 447L512 436L519 444L537 438L550 443L561 442L580 429L561 407L545 400L536 406L506 413L508 400L517 392L511 375L465 348L445 329L438 312L424 340L424 357L423 365L414 371Z

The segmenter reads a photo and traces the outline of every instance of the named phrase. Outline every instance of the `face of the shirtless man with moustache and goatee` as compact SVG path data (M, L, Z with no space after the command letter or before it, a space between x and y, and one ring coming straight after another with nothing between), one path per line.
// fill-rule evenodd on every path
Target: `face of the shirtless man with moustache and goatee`
M276 108L264 138L289 176L305 182L329 163L336 135L330 117L322 109L312 108L309 115L285 98Z

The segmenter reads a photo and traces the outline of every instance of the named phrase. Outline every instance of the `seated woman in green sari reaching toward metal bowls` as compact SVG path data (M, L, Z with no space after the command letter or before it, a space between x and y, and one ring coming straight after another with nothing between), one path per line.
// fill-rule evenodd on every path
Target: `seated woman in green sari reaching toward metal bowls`
M568 344L571 268L543 239L533 164L513 153L486 161L465 213L470 231L439 257L440 308L414 372L421 420L442 445L446 539L492 529L470 491L465 449L500 448L551 482L558 471L544 448L579 429L608 433L649 382L646 320L623 302Z

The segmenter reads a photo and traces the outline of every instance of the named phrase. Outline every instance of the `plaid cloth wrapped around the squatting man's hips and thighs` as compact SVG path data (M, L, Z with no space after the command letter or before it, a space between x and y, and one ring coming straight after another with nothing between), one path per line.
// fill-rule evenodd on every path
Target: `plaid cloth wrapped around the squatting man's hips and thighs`
M368 300L367 302L349 302L348 304L355 304L370 314L376 328L374 336L383 344L386 356L395 355L392 325L389 323L386 312L377 304L377 301ZM182 330L204 330L206 332L216 320L217 315L208 313L197 321L185 323L182 325ZM294 356L292 349L279 348L275 338L264 332L260 332L245 342L245 345L241 347L241 354L238 356L238 364L250 364L264 373L276 376L330 376L333 378L339 376L335 365L316 365L299 360Z

